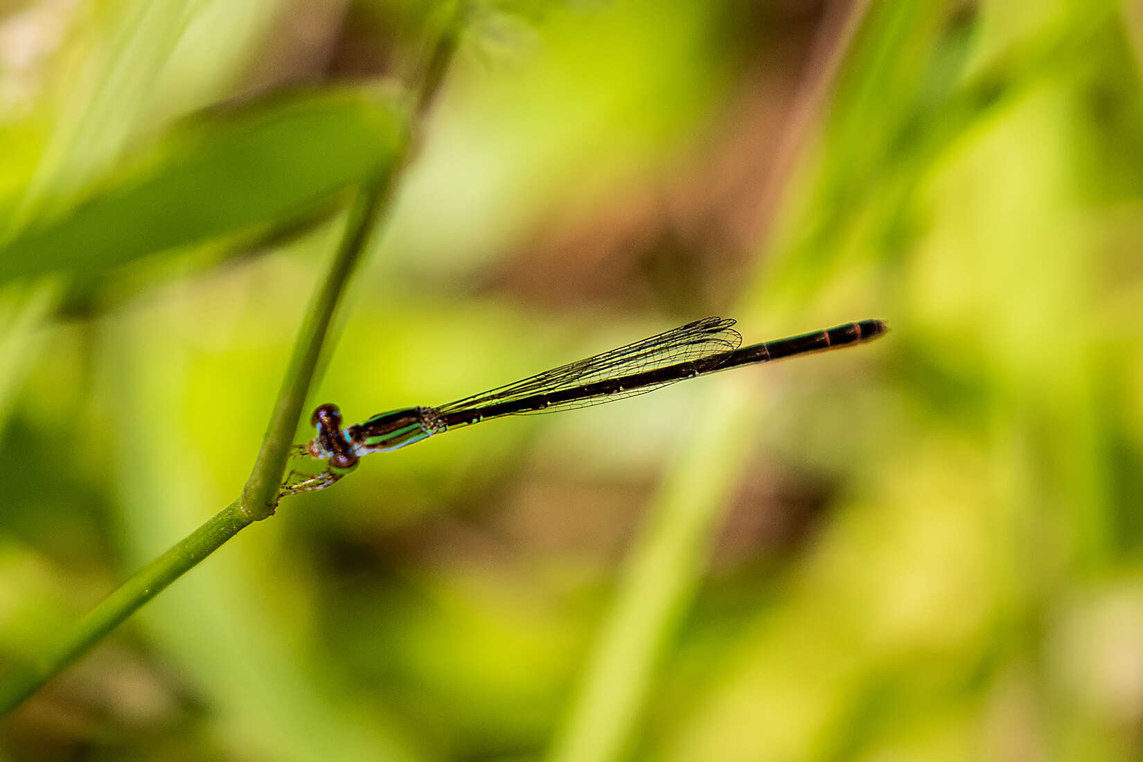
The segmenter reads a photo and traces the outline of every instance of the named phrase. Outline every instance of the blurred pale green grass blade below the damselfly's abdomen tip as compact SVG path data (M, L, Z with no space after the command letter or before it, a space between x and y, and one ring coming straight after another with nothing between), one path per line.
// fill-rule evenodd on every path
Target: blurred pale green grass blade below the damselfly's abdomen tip
M612 762L630 751L664 650L687 616L711 535L753 430L745 386L711 399L626 561L549 762ZM742 423L743 425L737 425Z

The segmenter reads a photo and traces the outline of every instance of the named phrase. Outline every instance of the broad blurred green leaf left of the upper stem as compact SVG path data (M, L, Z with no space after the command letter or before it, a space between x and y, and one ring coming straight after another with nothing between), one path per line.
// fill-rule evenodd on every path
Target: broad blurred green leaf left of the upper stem
M8 241L0 280L98 272L289 219L375 176L403 145L406 126L400 102L365 88L198 114L96 183L79 206Z

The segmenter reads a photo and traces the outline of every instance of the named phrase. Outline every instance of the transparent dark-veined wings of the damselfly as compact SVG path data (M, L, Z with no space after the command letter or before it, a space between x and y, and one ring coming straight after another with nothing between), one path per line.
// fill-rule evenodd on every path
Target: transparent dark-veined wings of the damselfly
M734 320L717 316L696 320L664 334L645 338L641 342L621 346L617 350L597 354L585 360L570 362L559 368L552 368L551 370L545 370L542 374L529 376L512 384L505 384L504 386L497 386L480 394L466 396L463 400L449 402L440 406L437 410L447 415L469 408L483 407L493 402L510 402L536 394L570 390L593 382L630 376L689 360L698 360L712 354L732 352L742 344L742 336L732 328L734 323ZM636 390L625 390L594 398L561 402L543 410L528 410L526 414L551 412L554 410L599 404L600 402L644 394L668 384L673 384L677 380L681 380L681 378Z

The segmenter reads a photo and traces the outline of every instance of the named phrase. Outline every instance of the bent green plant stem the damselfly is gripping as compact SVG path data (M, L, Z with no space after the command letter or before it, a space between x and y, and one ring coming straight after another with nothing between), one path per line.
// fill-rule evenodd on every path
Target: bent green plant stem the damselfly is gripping
M450 21L455 22L459 6ZM329 326L345 286L361 255L378 216L392 204L392 191L400 170L417 147L418 122L433 101L456 48L454 24L446 23L439 35L429 65L421 73L408 123L410 134L402 149L384 166L373 181L363 184L349 211L345 234L326 275L310 304L278 401L270 417L258 457L241 497L217 515L182 539L158 559L139 569L111 595L95 607L56 645L14 669L0 683L0 716L19 706L48 680L83 655L144 603L158 595L185 571L218 550L226 540L255 521L273 515L278 489L289 459L294 432L305 404L306 394L318 368L318 361L329 334Z

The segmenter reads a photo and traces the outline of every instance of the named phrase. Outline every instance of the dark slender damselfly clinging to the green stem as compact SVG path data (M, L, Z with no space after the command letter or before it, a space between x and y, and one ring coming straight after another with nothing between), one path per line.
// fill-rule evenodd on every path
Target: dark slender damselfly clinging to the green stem
M291 471L280 496L325 489L370 452L389 452L489 418L599 404L695 376L868 342L888 330L880 320L862 320L740 348L742 336L733 326L722 318L696 320L463 400L391 410L345 428L337 406L322 404L311 418L317 436L296 446L294 455L325 460L326 470L317 475Z

